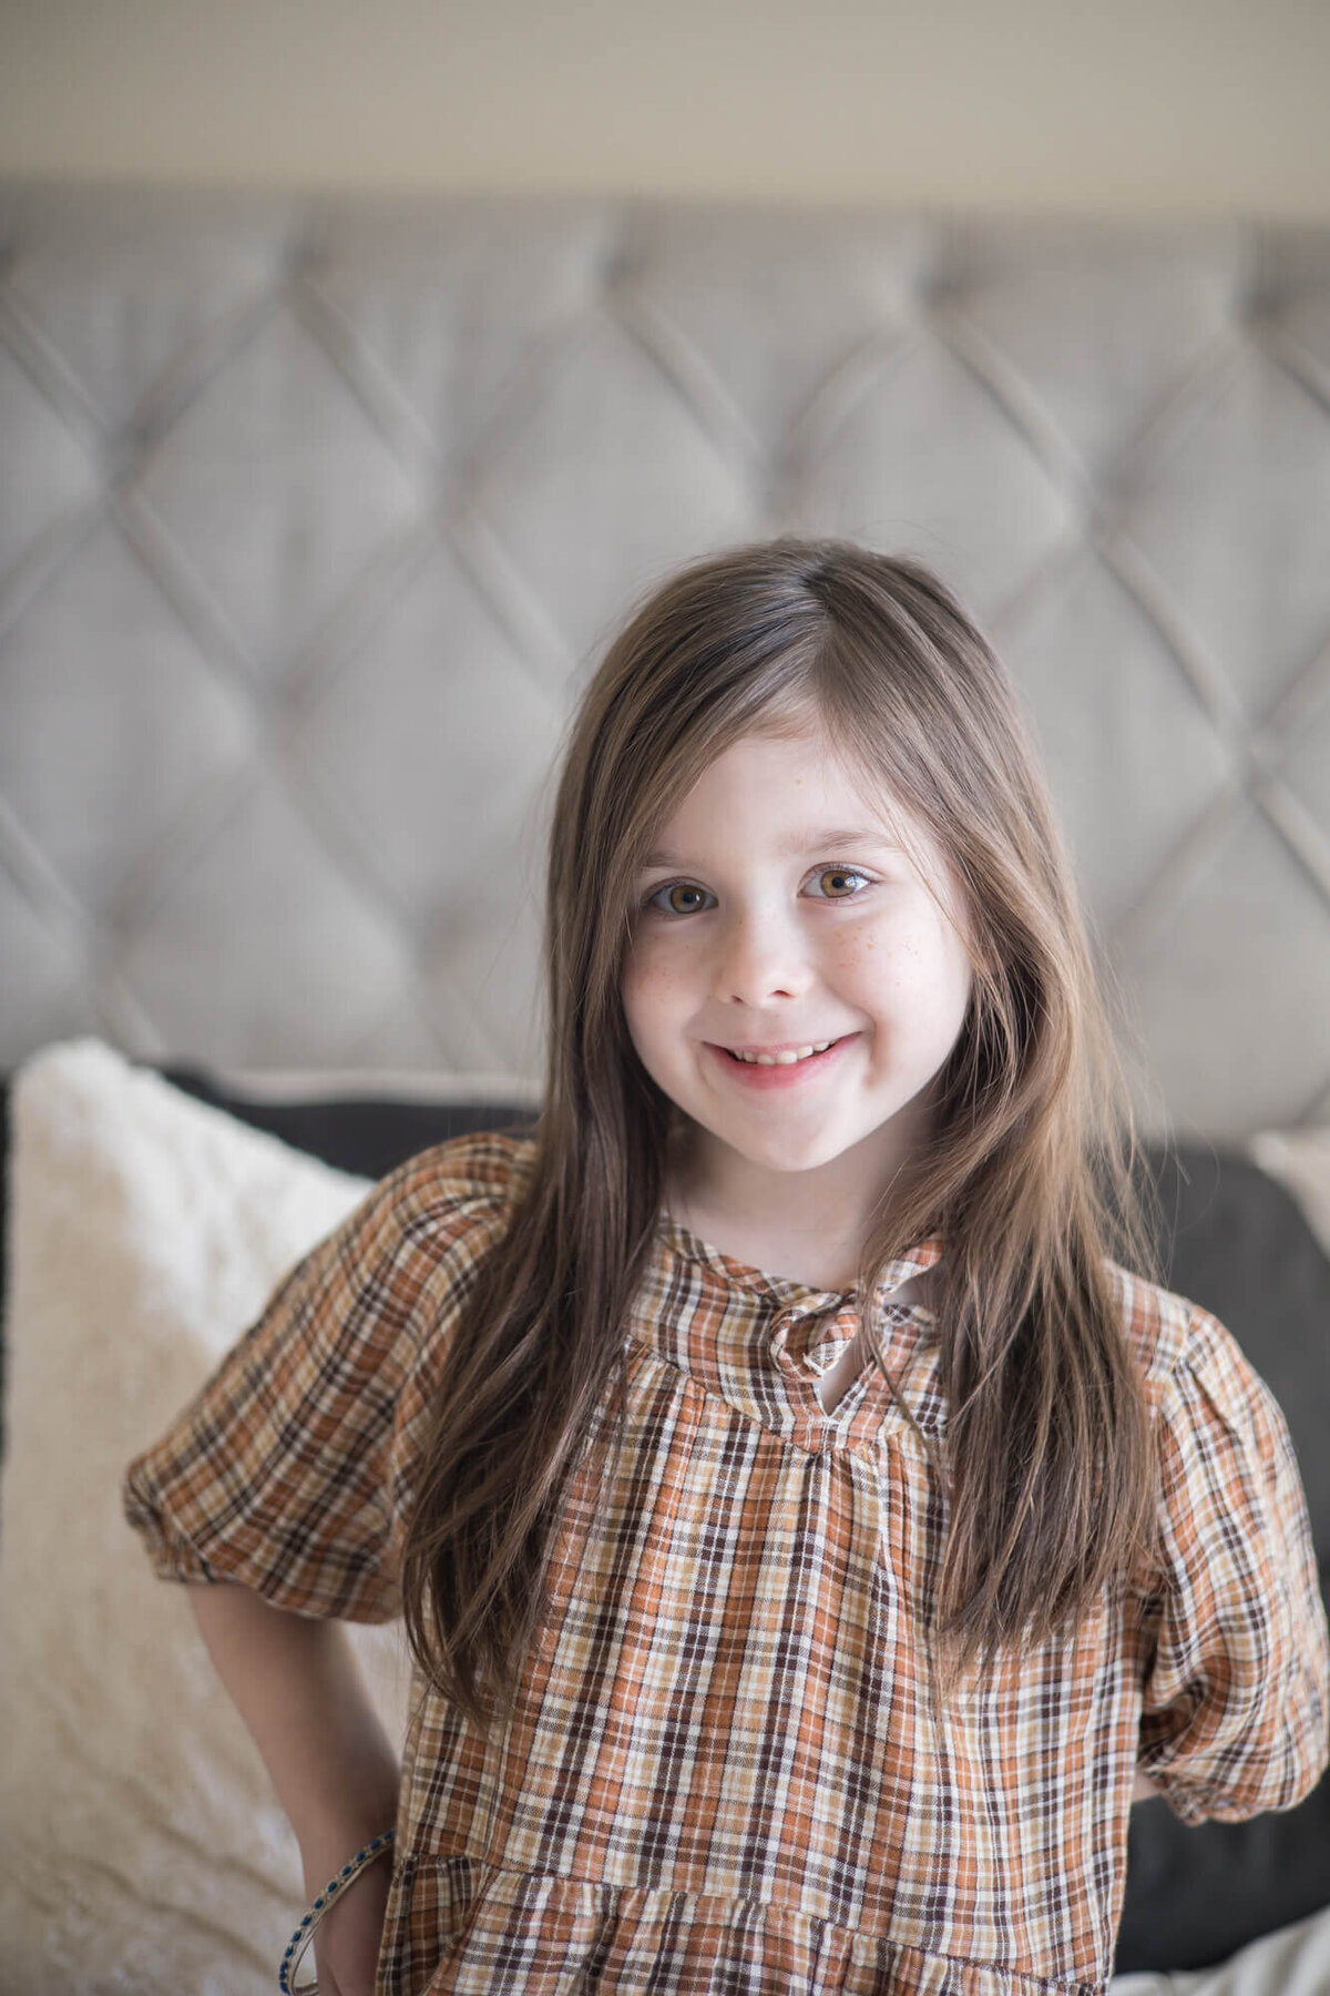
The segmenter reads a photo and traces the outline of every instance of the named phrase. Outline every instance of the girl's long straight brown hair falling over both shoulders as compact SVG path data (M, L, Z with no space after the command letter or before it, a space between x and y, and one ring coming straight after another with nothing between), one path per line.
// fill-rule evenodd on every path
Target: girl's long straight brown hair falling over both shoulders
M415 1657L477 1721L510 1707L548 1609L570 1471L592 1431L598 1449L622 1435L622 1327L676 1116L620 1000L634 874L716 754L810 705L931 834L967 904L973 992L933 1084L937 1140L891 1184L857 1275L871 1295L889 1259L943 1236L943 1675L1065 1631L1153 1549L1151 1427L1105 1265L1157 1279L1151 1220L1119 1022L1013 683L913 561L740 547L648 597L566 745L532 1170L453 1333L403 1547Z

